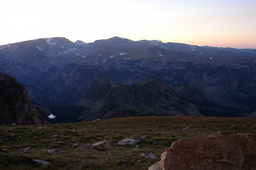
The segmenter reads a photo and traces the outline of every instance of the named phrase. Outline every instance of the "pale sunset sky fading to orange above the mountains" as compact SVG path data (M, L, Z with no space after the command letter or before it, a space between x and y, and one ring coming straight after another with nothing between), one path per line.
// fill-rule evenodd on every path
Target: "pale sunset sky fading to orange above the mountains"
M0 45L66 37L123 37L198 46L256 48L255 0L8 0Z

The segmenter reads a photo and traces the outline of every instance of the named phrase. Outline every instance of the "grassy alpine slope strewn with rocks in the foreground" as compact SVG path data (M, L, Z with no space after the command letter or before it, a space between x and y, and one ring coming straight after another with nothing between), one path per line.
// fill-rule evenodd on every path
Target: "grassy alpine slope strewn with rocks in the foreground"
M236 125L234 130L231 126ZM43 127L43 128L41 128ZM187 130L183 130L189 127ZM11 129L12 131L6 132ZM114 131L115 130L115 131ZM78 134L82 131L82 134ZM205 132L246 132L256 134L256 120L234 117L127 117L99 122L79 122L51 125L5 125L0 128L0 148L11 154L0 155L0 169L148 169L161 159L161 154L180 138L194 137ZM11 134L15 134L13 137ZM53 134L64 138L53 140ZM135 146L118 146L122 139L143 136L138 150ZM96 143L107 139L113 149L108 151L76 150L73 143ZM74 141L76 140L76 141ZM63 141L63 144L58 144ZM27 154L15 152L33 148ZM57 148L67 154L50 155ZM153 153L157 159L142 158L140 153ZM45 160L50 166L40 166L32 159ZM118 162L128 160L129 162Z

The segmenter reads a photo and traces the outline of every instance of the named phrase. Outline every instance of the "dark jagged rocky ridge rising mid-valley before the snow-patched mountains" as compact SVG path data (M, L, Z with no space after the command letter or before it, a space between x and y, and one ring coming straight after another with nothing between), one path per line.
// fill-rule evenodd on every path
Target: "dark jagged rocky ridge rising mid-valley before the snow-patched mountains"
M112 118L128 116L195 115L214 112L221 107L198 90L167 86L161 80L145 80L130 86L101 78L87 89L77 103L87 108L84 117ZM204 107L204 109L203 109Z

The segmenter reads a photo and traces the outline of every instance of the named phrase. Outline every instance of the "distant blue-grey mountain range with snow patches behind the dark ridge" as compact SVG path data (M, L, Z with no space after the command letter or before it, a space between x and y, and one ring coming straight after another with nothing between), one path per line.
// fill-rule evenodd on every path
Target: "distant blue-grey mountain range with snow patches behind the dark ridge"
M158 79L173 88L202 91L227 111L222 116L236 116L256 109L254 50L121 37L86 45L42 38L0 46L0 72L24 84L38 105L77 103L102 77L125 85Z

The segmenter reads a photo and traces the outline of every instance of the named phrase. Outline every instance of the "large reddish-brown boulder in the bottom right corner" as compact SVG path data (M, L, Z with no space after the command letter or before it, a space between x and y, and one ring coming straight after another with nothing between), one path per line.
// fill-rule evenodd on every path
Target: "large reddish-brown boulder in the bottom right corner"
M200 141L200 142L198 142ZM150 170L159 169L255 169L256 135L210 132L179 139Z

